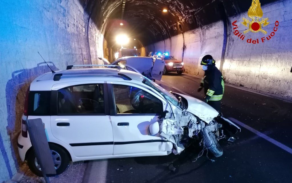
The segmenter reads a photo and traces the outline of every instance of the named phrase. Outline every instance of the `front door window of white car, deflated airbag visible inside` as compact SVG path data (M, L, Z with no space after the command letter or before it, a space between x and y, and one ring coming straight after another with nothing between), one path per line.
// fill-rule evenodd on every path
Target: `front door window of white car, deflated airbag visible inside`
M113 84L117 114L160 114L163 104L152 94L140 88Z

